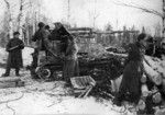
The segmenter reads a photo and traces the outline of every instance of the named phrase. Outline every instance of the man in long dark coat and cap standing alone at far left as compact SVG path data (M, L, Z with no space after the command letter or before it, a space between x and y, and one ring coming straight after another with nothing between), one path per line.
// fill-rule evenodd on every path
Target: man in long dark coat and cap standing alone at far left
M7 51L9 53L7 61L7 70L2 77L9 77L11 68L15 69L15 76L20 76L19 70L23 67L22 49L24 48L23 42L19 38L20 33L14 32L13 38L11 38L7 45Z

